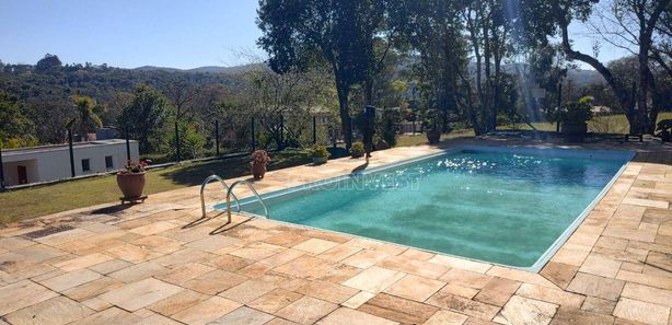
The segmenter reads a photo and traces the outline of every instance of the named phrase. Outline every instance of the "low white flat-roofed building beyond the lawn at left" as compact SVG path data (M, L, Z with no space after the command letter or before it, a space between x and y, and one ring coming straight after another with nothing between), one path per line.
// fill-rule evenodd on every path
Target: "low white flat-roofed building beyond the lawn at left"
M130 140L130 159L138 161L138 141ZM72 144L74 175L113 172L126 164L126 140L111 139ZM2 150L5 186L72 177L68 144Z

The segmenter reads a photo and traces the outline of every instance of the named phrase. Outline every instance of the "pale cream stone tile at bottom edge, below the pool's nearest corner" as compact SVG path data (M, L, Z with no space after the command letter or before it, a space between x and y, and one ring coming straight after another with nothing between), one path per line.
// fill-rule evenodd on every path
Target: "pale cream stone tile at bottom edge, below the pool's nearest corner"
M548 324L557 305L513 295L501 310L501 316L511 324Z

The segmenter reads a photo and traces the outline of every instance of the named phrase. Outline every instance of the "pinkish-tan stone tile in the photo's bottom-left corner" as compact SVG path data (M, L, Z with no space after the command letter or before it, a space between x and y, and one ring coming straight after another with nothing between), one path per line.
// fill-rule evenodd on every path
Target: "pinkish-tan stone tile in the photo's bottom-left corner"
M11 324L62 325L94 311L65 297L56 297L4 316Z

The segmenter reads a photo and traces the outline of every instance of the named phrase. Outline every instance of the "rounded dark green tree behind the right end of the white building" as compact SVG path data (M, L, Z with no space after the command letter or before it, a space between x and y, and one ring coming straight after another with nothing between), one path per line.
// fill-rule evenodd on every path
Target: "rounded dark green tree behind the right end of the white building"
M171 108L163 94L148 85L139 85L117 123L121 130L128 128L129 137L139 141L140 152L148 153L160 146L161 130Z

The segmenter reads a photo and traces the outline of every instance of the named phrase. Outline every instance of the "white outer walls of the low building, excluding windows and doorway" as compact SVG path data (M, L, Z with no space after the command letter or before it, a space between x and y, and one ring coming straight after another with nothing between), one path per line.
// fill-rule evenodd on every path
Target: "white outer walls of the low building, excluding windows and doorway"
M74 174L76 176L118 171L126 164L126 143L111 143L99 146L74 146ZM105 156L112 156L113 166L106 167ZM138 161L140 153L138 142L130 142L130 156ZM83 171L82 160L89 159L90 171ZM70 151L68 147L53 150L27 152L2 156L4 181L8 186L19 185L18 165L27 167L28 183L48 182L71 177Z

